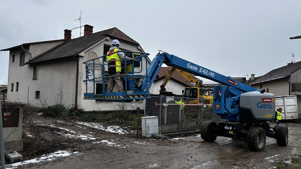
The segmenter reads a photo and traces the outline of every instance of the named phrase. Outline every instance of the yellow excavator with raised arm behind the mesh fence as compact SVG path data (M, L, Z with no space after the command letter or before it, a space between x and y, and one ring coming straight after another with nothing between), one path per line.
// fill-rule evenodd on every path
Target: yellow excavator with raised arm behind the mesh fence
M195 77L193 74L184 72L182 70L176 69L174 67L171 67L169 71L167 72L163 83L160 85L160 95L164 96L174 96L170 91L166 91L166 84L169 81L170 77L172 76L172 73L177 70L181 75L183 75L185 78L190 80L191 86L193 87L187 87L185 88L182 93L184 98L190 98L186 100L183 100L183 102L186 104L188 103L199 103L200 99L204 100L204 104L213 104L213 96L205 95L205 88L203 87L203 81L199 78ZM194 99L195 98L195 99Z

